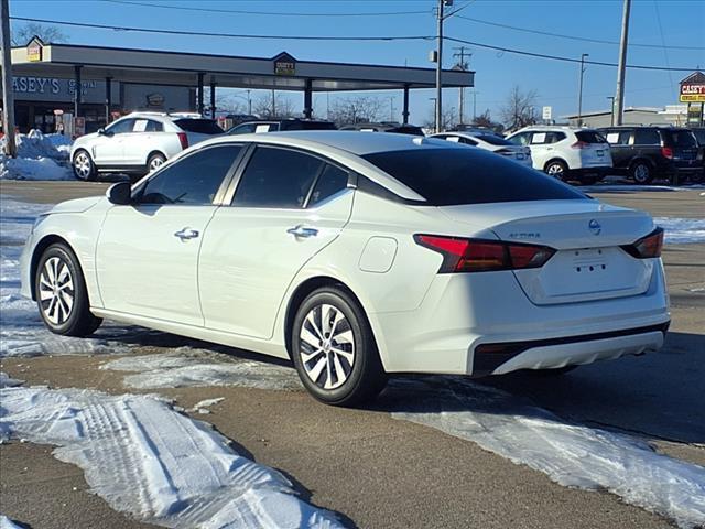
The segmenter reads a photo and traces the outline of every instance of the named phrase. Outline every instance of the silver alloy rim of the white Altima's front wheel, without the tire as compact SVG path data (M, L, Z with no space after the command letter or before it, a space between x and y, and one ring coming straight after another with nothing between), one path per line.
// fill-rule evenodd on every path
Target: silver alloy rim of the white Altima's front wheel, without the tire
M59 257L44 262L40 274L39 298L42 312L54 325L63 325L69 319L75 301L74 278L68 263Z

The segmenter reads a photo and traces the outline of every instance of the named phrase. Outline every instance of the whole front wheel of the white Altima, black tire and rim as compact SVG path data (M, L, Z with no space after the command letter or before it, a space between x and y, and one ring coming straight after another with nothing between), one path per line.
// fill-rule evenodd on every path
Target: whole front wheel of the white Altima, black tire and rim
M78 259L66 245L50 246L36 267L34 292L46 327L64 336L88 336L102 320L89 310L88 291Z

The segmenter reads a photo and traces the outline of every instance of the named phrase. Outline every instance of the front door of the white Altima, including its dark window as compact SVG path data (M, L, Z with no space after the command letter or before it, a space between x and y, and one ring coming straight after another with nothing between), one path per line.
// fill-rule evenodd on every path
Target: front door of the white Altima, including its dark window
M197 150L133 190L132 204L108 210L96 251L105 309L203 325L198 251L240 151Z

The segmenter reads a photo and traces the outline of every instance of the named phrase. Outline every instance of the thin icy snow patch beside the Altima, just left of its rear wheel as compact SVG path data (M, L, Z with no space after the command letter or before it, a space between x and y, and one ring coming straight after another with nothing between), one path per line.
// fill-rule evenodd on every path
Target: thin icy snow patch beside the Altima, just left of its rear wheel
M246 360L191 347L167 354L127 356L108 361L100 369L133 371L124 386L137 389L189 386L238 386L257 389L301 389L296 371L267 361Z

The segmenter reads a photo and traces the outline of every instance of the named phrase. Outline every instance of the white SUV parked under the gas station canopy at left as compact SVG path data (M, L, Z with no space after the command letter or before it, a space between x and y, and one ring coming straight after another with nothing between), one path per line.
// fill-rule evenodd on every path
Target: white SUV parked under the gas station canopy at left
M132 112L78 138L70 161L80 180L95 180L98 173L144 174L188 145L223 132L199 114Z

